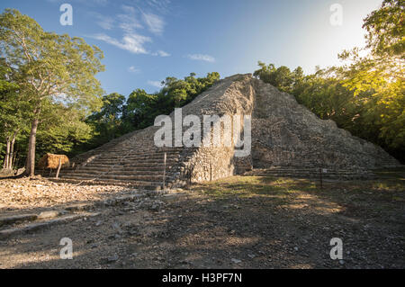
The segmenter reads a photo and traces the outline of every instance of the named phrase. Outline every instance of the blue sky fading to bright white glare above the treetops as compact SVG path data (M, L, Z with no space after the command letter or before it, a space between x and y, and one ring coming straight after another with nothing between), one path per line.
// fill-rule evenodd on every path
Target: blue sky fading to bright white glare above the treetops
M276 66L337 65L342 49L361 46L365 16L382 0L2 0L45 31L78 36L103 50L106 71L97 78L106 93L148 92L166 76L182 78L252 73L257 61ZM59 22L71 4L73 25ZM342 25L333 26L332 4Z

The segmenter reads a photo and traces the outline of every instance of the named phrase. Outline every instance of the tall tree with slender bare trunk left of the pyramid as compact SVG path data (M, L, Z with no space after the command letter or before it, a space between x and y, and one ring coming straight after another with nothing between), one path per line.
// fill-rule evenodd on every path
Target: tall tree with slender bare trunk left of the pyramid
M17 72L16 83L31 103L26 172L34 175L35 144L44 104L63 103L91 112L103 91L94 77L103 71L103 53L80 38L43 31L27 15L6 9L0 15L0 52Z

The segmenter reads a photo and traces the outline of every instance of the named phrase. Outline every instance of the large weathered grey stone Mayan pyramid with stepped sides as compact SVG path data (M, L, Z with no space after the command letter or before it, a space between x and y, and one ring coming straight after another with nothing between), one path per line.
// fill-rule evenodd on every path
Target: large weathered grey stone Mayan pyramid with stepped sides
M251 116L251 153L235 147L157 148L159 127L137 130L73 159L73 180L130 183L142 189L216 180L237 174L352 178L400 166L382 148L320 120L293 95L248 75L229 76L182 109L186 115ZM174 120L175 112L170 117ZM166 164L165 164L166 156Z

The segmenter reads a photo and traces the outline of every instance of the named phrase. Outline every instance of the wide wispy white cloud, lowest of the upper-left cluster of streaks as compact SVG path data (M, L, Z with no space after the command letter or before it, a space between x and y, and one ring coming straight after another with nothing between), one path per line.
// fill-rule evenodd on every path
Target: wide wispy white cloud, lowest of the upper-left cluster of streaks
M125 34L121 41L103 33L94 35L92 38L96 40L103 40L106 43L112 44L120 49L126 49L134 54L148 54L148 51L143 47L143 45L146 42L152 41L149 37L135 33Z

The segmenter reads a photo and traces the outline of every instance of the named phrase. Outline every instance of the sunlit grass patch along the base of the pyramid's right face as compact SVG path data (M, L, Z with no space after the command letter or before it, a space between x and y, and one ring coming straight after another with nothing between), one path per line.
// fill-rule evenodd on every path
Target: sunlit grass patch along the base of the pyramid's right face
M216 202L256 198L263 199L264 204L277 206L308 194L320 201L335 202L341 206L367 209L374 206L374 211L377 211L400 208L405 202L404 186L401 176L369 181L325 182L322 189L317 181L305 179L233 176L196 185L193 190L208 195Z

